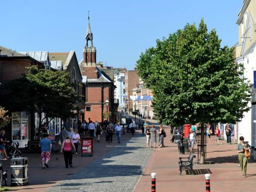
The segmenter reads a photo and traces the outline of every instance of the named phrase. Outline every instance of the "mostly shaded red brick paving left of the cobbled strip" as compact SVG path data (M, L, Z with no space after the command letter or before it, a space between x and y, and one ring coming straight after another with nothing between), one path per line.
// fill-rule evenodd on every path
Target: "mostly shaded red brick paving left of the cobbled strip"
M89 136L87 134L86 136ZM122 134L121 144L127 142L132 138L132 134ZM95 138L96 139L96 138ZM106 153L111 151L113 148L121 145L117 142L116 135L113 135L113 143L105 141L105 135L101 136L100 143L94 141L94 154L91 157L82 157L80 154L73 154L73 168L65 169L64 157L60 152L52 152L51 159L49 161L49 168L41 168L40 153L23 153L23 157L28 158L28 179L29 185L19 187L8 187L11 191L18 192L43 192L50 187L58 184L64 179L67 179L73 174L78 173L80 170L85 169L88 165L94 161L101 159ZM58 144L55 143L55 148L59 148ZM79 146L81 147L81 146ZM81 150L79 148L79 150ZM4 170L8 172L7 185L10 186L11 170L10 160L2 161Z

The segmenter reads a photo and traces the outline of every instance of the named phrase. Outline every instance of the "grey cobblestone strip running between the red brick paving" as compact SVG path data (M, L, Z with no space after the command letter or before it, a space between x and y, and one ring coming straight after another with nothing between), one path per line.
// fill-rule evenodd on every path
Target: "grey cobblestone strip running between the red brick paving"
M132 192L152 153L145 145L138 133L46 192Z

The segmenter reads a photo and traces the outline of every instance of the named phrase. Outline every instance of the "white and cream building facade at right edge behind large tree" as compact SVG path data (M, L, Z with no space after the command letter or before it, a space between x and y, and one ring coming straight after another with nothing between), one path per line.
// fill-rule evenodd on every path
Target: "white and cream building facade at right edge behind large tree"
M235 61L244 67L243 76L250 80L250 111L238 122L238 138L243 136L251 146L256 146L256 0L244 0L238 13L238 44L235 45ZM254 72L255 71L255 72Z

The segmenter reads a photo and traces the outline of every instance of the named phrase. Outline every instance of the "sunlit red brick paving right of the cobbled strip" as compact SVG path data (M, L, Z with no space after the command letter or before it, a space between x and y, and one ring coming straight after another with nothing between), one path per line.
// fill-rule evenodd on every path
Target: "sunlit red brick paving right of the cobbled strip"
M247 165L247 178L241 176L241 169L238 167L237 144L226 144L221 141L216 144L215 138L207 140L206 161L213 164L198 165L194 160L193 169L197 170L196 175L186 174L183 171L179 175L178 157L188 156L179 155L177 144L171 143L169 128L164 148L157 148L153 151L151 158L137 183L134 192L151 191L151 173L156 175L157 192L203 192L206 191L205 176L206 171L210 174L210 189L212 192L256 192L256 161L251 159Z

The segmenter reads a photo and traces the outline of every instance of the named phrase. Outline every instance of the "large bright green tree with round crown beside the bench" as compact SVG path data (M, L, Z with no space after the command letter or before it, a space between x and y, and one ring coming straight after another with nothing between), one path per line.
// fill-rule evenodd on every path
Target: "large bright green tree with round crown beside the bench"
M203 19L156 40L137 61L139 76L152 89L152 107L165 125L236 122L249 110L250 87L233 49L220 46ZM204 129L201 129L203 142ZM201 143L203 144L203 143ZM201 147L201 163L205 162Z

